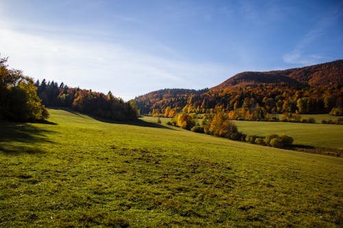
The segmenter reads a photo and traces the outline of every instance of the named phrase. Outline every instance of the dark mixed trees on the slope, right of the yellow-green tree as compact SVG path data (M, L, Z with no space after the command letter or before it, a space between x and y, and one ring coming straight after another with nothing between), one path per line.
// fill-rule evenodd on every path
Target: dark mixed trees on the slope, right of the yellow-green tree
M92 114L114 121L132 121L137 119L138 112L134 100L124 102L114 97L112 92L107 95L92 90L69 88L63 83L58 86L54 81L40 83L36 81L38 96L47 106L72 107L74 110Z

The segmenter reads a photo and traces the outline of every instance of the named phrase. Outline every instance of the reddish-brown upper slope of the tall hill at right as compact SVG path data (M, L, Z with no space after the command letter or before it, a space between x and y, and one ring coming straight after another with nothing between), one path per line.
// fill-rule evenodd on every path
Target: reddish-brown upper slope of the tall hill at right
M243 72L230 77L211 90L260 84L285 84L287 86L342 86L343 60L285 71Z

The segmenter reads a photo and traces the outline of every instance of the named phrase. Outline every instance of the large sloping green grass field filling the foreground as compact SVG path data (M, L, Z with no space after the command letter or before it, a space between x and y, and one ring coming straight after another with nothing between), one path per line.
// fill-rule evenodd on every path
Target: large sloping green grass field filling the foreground
M49 111L0 122L0 227L343 226L342 158Z

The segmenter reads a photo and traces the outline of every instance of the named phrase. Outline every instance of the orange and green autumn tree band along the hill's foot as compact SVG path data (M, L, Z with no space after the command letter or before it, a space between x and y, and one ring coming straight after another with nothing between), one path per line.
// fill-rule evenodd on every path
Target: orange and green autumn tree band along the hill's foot
M222 108L231 119L273 121L275 114L341 114L342 86L288 86L260 84L257 86L209 90L202 94L163 97L152 101L136 99L141 114L172 117L178 112L210 113Z

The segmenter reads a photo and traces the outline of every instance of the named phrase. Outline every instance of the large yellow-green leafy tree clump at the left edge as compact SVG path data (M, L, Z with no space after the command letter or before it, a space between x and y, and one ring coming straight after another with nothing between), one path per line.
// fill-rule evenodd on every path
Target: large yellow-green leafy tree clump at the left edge
M0 118L10 121L43 121L49 113L36 94L36 86L21 71L10 70L0 58Z

